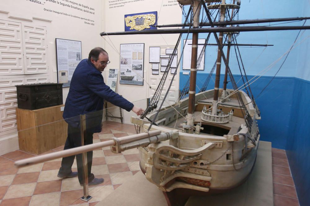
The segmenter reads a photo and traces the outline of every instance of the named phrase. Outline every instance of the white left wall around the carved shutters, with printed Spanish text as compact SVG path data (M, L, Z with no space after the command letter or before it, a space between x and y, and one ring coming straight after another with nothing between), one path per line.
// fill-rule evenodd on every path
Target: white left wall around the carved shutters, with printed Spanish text
M24 78L33 76L40 78L48 76L49 82L57 82L57 66L56 66L56 51L55 38L78 40L82 42L82 58L87 58L89 51L96 47L102 46L103 40L99 33L102 32L102 11L103 5L101 0L11 0L0 2L0 19L5 21L19 22L32 26L46 27L47 35L47 66L46 74L21 74L21 75L1 75L0 79ZM40 4L41 3L41 4ZM69 5L64 6L64 4ZM78 4L78 5L76 5ZM87 7L83 7L86 5ZM71 6L81 8L85 11L80 11ZM91 10L94 8L95 10ZM56 14L52 11L62 12ZM88 11L88 12L87 12ZM89 11L95 12L90 14ZM67 14L67 15L64 15ZM71 16L72 15L72 16ZM78 19L86 18L88 20ZM93 21L93 22L92 22ZM87 23L93 23L86 24ZM11 88L14 88L11 86ZM3 90L3 88L1 88ZM11 89L12 90L12 89ZM63 89L64 102L68 94L69 87ZM15 94L14 94L15 92ZM17 107L16 91L11 92L12 107ZM14 99L15 97L15 99ZM2 104L4 105L4 104ZM1 105L0 105L1 107ZM3 114L3 112L2 112ZM15 118L15 113L10 114ZM4 118L3 116L1 118ZM13 121L13 120L11 120ZM13 121L13 124L16 121ZM15 123L16 124L16 123ZM18 149L17 128L12 128L9 131L0 132L0 154L7 153Z

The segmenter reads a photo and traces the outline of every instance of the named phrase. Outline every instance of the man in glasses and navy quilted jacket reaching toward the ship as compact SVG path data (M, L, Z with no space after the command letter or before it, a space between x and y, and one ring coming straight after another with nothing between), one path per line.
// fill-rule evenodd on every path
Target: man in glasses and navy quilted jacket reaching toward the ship
M68 137L64 149L81 146L80 117L86 114L86 137L84 145L93 143L93 133L101 132L103 114L103 100L121 107L126 111L133 111L137 115L143 109L134 106L131 102L115 93L104 83L101 75L110 63L108 53L100 47L89 53L88 59L83 59L75 69L64 107L64 120L68 123ZM93 152L87 152L88 183L96 185L104 182L103 178L95 178L91 173ZM75 177L78 175L80 184L83 184L82 154L76 155L78 172L72 172L75 155L62 159L58 177Z

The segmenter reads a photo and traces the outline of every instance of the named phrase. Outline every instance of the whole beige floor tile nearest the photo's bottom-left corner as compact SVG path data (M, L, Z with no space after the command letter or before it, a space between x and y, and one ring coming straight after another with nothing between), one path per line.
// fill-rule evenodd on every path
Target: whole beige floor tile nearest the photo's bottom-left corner
M36 184L37 183L11 185L3 199L31 196Z

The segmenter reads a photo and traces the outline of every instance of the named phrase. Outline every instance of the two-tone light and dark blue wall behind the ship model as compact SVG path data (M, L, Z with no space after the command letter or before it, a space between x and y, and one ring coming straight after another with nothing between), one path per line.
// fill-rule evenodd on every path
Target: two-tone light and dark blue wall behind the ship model
M229 3L229 1L227 1ZM188 11L188 7L185 7ZM283 18L310 16L310 1L273 0L241 1L239 19ZM184 18L183 18L184 20ZM288 25L303 25L303 21ZM277 24L277 23L271 23ZM268 25L268 24L259 24ZM310 20L305 25L310 25ZM276 26L276 25L275 25ZM290 169L296 186L301 206L310 205L310 31L302 31L293 46L285 64L276 78L261 95L259 93L277 73L286 52L291 48L299 31L241 32L239 44L274 44L267 48L240 48L243 63L249 78L262 72L262 77L251 85L256 103L261 111L259 121L261 140L271 141L272 147L286 149ZM191 35L189 35L191 38ZM206 38L200 34L199 38ZM183 39L185 35L183 35ZM183 47L182 39L182 47ZM215 43L212 36L209 43ZM205 69L197 72L197 88L199 91L206 75L210 72L216 59L216 47L209 46L205 54ZM239 68L235 60L234 49L230 54L230 67L236 81L240 79ZM282 57L282 58L281 58ZM279 60L279 61L278 61ZM182 62L182 60L181 60ZM274 63L273 66L272 63ZM223 64L223 62L222 62ZM270 66L270 67L268 67ZM182 68L182 63L181 63ZM188 72L188 70L184 70ZM222 69L224 73L224 69ZM223 84L223 74L221 83ZM180 89L184 87L188 75L180 69ZM214 79L214 76L213 76ZM241 85L241 82L238 83ZM208 88L214 86L211 79ZM228 85L228 88L232 88ZM258 96L259 95L259 96Z

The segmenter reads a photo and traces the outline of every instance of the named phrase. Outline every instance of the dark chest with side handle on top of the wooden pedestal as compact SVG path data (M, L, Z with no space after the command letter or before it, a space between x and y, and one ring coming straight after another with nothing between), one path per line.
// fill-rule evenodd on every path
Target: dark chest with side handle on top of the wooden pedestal
M17 85L17 104L21 109L41 109L61 105L62 84L41 83Z

